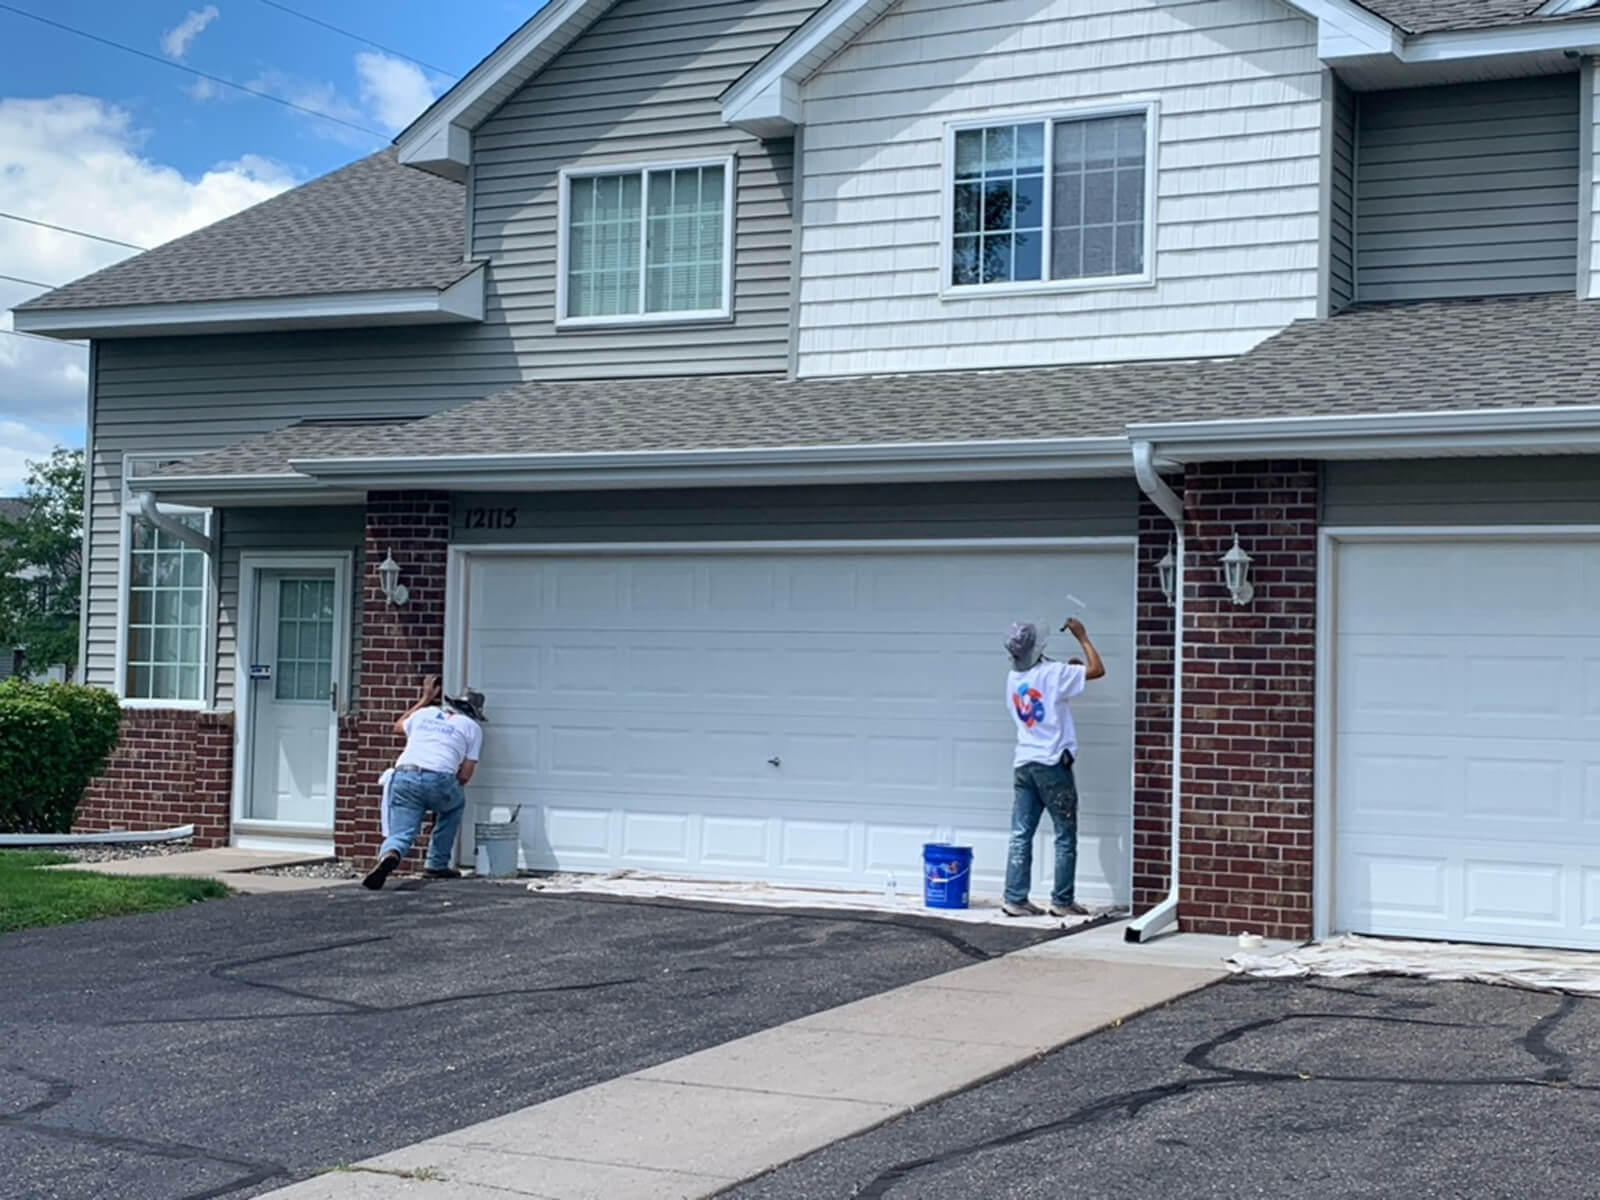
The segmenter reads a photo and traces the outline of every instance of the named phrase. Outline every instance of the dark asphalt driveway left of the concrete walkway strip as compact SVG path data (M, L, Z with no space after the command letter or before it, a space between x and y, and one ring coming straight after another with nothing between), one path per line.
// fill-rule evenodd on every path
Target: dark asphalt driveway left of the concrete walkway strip
M482 882L0 938L0 1197L254 1195L1037 941Z

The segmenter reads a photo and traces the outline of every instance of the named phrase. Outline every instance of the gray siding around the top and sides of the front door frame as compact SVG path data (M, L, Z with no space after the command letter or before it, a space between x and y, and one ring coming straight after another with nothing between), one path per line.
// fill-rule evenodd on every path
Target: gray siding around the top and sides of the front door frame
M350 555L350 693L360 674L362 558L366 510L349 507L226 509L221 514L221 563L218 570L216 704L234 706L234 670L238 650L240 554L301 554L344 550Z

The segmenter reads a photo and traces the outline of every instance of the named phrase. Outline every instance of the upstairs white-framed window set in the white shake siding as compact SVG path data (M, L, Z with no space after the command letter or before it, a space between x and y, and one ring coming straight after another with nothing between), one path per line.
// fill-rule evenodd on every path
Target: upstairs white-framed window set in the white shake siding
M1150 275L1154 112L952 130L950 288Z

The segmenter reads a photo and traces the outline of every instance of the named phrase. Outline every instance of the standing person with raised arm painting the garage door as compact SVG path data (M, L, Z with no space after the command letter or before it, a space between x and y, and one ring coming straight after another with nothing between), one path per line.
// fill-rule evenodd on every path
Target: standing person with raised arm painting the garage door
M1099 651L1078 619L1066 629L1083 646L1086 662L1054 662L1045 658L1050 630L1045 626L1014 624L1005 638L1011 656L1006 675L1006 709L1016 722L1016 755L1011 763L1011 848L1005 867L1008 917L1042 915L1027 898L1034 875L1034 832L1048 810L1056 826L1056 885L1050 893L1051 917L1088 914L1074 894L1078 870L1078 787L1072 765L1078 754L1078 733L1072 723L1072 698L1090 680L1106 674Z

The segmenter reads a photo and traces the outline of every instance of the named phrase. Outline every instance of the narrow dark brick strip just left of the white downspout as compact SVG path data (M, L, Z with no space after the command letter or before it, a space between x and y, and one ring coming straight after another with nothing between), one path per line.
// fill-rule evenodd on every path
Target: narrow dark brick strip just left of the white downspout
M1182 490L1182 482L1173 482ZM1141 498L1136 555L1133 698L1133 910L1166 898L1173 838L1173 608L1157 563L1173 544L1173 523Z

